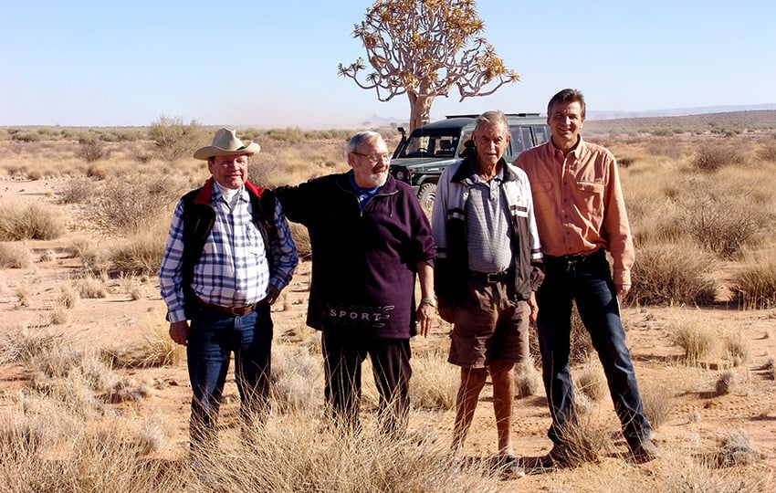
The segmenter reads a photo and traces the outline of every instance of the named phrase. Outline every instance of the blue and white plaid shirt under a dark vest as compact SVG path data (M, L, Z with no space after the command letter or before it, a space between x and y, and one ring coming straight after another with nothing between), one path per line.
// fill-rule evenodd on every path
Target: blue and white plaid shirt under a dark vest
M234 207L213 187L215 225L194 266L192 287L199 299L222 307L244 307L267 297L269 285L282 290L299 263L296 245L279 203L275 206L276 241L270 246L274 267L269 272L264 241L253 222L248 192L238 192ZM183 282L184 203L175 208L167 247L159 269L159 285L171 322L185 320Z

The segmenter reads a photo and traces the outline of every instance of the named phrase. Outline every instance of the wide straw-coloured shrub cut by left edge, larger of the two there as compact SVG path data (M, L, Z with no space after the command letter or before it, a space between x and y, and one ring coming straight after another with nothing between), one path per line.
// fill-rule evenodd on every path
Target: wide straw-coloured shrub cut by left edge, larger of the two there
M0 241L57 239L65 232L62 216L39 204L0 206Z

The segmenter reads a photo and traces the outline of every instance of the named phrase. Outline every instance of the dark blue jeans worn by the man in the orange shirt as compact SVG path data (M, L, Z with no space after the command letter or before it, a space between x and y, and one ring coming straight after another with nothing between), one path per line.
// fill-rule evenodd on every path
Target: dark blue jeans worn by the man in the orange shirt
M625 440L635 446L649 437L651 427L625 346L616 290L603 249L588 257L545 257L544 265L544 283L536 299L542 377L552 416L548 435L555 444L562 444L564 427L577 425L569 369L573 299L603 366Z

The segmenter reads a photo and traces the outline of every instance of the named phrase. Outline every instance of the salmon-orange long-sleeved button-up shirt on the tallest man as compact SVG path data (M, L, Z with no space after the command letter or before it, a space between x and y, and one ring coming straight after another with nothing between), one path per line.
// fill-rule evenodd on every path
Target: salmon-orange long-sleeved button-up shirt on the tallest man
M604 248L612 255L614 284L630 285L634 243L612 152L580 137L565 156L550 141L514 164L529 176L541 252L562 257Z

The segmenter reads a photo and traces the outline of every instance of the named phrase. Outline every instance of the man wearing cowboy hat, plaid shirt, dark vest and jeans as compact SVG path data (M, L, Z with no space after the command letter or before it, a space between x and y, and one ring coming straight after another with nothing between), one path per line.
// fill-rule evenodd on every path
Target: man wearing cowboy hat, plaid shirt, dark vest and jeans
M274 194L247 181L259 152L234 130L215 132L194 152L212 177L175 208L159 269L170 337L187 346L192 384L192 446L215 444L215 425L229 358L235 353L244 431L268 409L272 320L269 305L299 261ZM191 325L187 320L191 320Z

